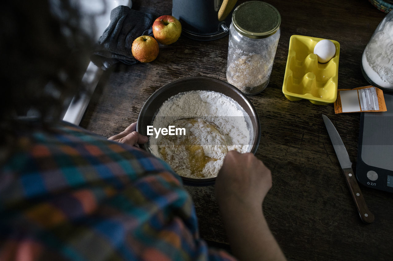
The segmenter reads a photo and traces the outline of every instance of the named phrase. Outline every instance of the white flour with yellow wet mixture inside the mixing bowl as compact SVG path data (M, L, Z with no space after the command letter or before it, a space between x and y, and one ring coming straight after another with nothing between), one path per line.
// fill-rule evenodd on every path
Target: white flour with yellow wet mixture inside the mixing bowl
M149 148L189 178L217 176L229 150L250 152L250 118L233 99L213 91L179 93L163 103L153 127L186 129L185 136L150 136ZM251 135L250 135L251 134Z

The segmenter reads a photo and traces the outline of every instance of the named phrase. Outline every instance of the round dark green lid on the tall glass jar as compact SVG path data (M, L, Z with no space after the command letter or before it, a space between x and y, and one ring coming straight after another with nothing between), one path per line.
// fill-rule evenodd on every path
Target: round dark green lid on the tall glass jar
M232 24L242 35L261 39L277 32L281 24L281 16L271 4L248 1L233 11Z

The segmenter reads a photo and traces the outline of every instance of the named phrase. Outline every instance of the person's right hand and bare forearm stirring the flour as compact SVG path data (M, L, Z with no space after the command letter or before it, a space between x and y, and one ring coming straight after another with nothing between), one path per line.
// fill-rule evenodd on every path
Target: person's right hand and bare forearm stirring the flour
M270 170L252 153L226 154L215 194L231 250L240 260L285 260L262 210L271 187Z

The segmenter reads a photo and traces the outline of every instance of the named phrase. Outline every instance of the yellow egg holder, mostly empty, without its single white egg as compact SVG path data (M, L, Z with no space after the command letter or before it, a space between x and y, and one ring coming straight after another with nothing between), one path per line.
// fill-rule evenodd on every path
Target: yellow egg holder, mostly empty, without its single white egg
M340 44L331 40L336 54L329 62L318 63L314 47L320 40L323 38L291 36L283 83L283 94L288 100L306 99L317 105L336 101Z

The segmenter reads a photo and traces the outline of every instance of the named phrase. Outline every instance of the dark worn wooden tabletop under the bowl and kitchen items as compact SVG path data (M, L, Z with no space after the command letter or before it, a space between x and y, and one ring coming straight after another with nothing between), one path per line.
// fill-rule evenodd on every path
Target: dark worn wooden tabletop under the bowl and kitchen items
M132 2L133 9L154 17L171 14L171 1ZM270 228L288 259L393 260L393 195L361 186L375 214L374 223L362 223L321 117L326 114L332 120L356 163L360 113L334 114L332 104L289 101L281 91L293 34L340 43L339 89L369 85L360 70L361 56L385 14L367 0L268 2L281 14L281 37L270 83L250 100L262 128L256 156L273 176L263 205ZM80 125L109 137L136 121L147 98L169 82L187 76L226 81L227 52L228 36L210 42L181 36L172 45L160 45L151 63L119 64L101 77ZM353 167L356 171L356 164ZM214 187L186 189L195 202L200 235L226 246Z

